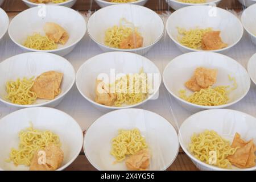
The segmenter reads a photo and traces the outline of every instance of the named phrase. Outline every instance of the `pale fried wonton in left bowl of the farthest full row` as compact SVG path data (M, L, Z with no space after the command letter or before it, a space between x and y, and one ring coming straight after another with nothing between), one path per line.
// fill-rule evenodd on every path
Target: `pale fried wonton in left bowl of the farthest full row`
M68 32L59 24L47 22L44 25L44 32L49 39L52 39L55 43L65 44L68 42Z

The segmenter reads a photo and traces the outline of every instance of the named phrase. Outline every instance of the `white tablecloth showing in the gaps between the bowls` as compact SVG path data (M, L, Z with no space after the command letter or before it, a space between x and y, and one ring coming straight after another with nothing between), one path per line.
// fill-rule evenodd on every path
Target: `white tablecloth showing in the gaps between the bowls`
M162 17L166 20L168 13L162 15ZM88 19L88 17L85 18ZM22 49L11 42L7 34L1 40L0 62L22 52ZM253 46L249 36L245 32L240 43L233 47L226 55L237 60L246 68L248 60L255 52L256 47ZM77 71L82 63L90 57L100 53L102 53L101 49L89 38L89 35L86 34L76 48L69 53L69 55L65 56L65 58L71 62ZM160 40L160 42L144 56L153 61L160 69L160 72L163 73L164 67L166 67L172 59L181 54L182 52L176 48L174 42L172 42L167 34L164 34L162 40ZM255 103L256 86L252 83L250 91L245 98L236 105L229 107L229 109L240 110L256 117ZM154 111L155 113L162 115L164 118L168 119L176 129L179 128L184 119L193 114L177 104L175 99L168 93L163 83L160 86L159 98L157 100L150 100L139 108ZM73 86L71 91L65 96L64 100L56 107L56 109L62 110L75 118L82 127L82 130L86 130L92 122L105 114L95 109L88 101L86 101L78 92L76 85ZM0 118L14 110L14 108L0 103Z

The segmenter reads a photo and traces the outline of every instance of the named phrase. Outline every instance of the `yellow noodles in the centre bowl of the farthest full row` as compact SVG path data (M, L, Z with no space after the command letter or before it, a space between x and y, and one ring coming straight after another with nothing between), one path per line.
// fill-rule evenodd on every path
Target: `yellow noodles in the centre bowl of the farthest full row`
M133 32L139 34L133 23L127 22L125 18L122 18L119 22L119 26L113 26L106 30L105 45L113 48L120 48L119 44L122 40L128 38Z

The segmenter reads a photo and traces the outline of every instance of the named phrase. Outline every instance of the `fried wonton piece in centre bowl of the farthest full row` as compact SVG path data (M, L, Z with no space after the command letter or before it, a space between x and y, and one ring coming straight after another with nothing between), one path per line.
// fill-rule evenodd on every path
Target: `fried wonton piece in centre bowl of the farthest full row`
M133 32L133 34L129 35L128 38L123 39L119 44L121 49L134 49L143 46L143 37L139 35L137 32Z

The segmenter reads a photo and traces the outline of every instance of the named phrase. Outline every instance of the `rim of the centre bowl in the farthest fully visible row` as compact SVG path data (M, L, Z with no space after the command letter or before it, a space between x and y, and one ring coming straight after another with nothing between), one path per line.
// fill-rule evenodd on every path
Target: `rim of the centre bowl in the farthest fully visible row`
M142 8L142 9L145 9L145 10L149 10L151 11L151 13L157 15L159 17L159 19L161 20L162 24L163 24L163 31L162 31L162 34L159 36L158 39L156 39L153 43L149 44L148 46L143 46L143 47L139 47L139 48L133 48L133 49L121 49L121 48L113 48L113 47L109 47L109 46L106 46L104 43L101 43L101 42L98 42L91 34L90 34L90 31L89 31L89 24L90 24L90 21L92 20L92 17L95 16L95 14L97 13L100 13L100 11L104 10L104 9L109 9L109 8L112 8L112 7L115 7L115 8L118 8L120 6L131 6L131 7L139 7L139 8ZM95 24L95 23L94 23ZM107 48L107 49L111 49L112 51L123 51L123 52L133 52L133 51L140 51L140 50L143 50L143 49L146 49L146 48L150 48L151 46L154 46L156 43L159 42L160 39L162 39L163 35L164 35L164 32L165 32L165 25L164 25L164 21L163 19L159 16L159 14L157 14L155 11L151 10L151 9L148 9L147 7L144 7L144 6L140 6L140 5L134 5L134 4L127 4L127 3L122 3L122 5L112 5L112 6L106 6L106 7L102 7L100 10L97 10L95 13L92 14L92 16L90 16L90 18L88 19L88 22L87 22L87 32L88 32L88 35L90 36L90 38L95 42L97 43L99 46L102 46L104 48Z

